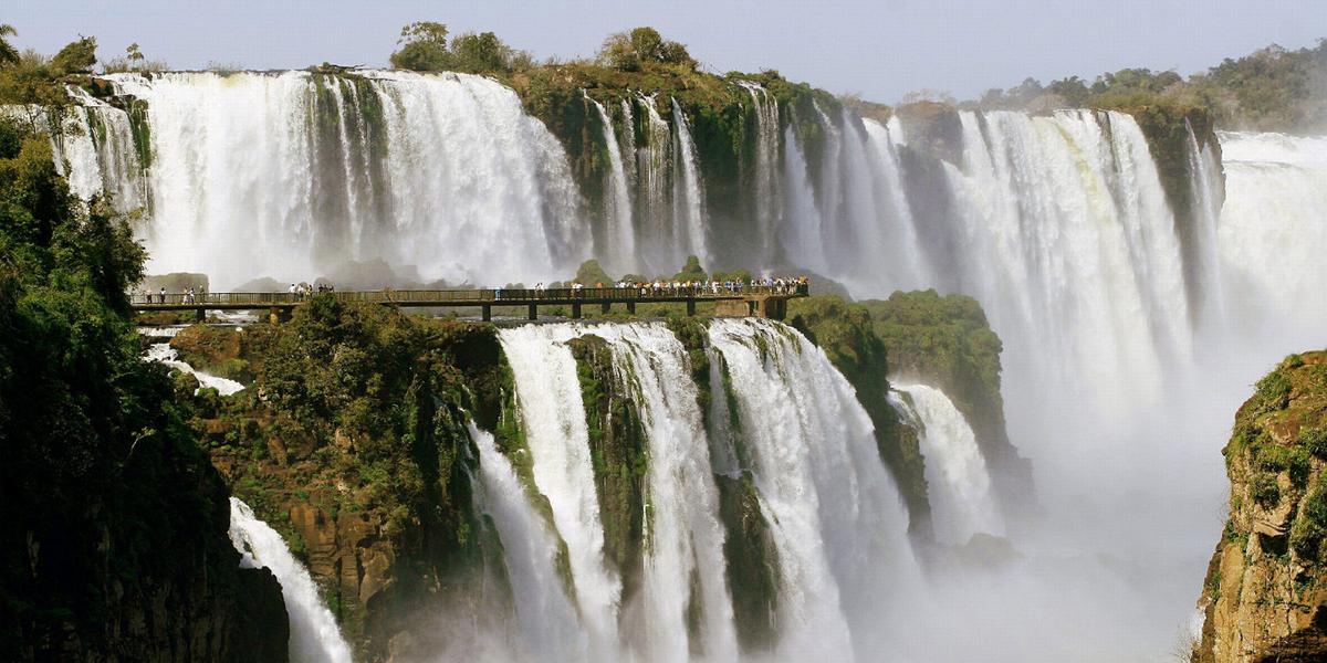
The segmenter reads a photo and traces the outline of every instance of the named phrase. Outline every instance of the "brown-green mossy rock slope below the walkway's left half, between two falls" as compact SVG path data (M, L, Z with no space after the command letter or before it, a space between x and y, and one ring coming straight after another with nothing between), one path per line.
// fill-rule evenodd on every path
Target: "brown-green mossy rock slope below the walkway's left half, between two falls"
M224 334L235 332L186 338L224 355ZM357 655L429 647L438 634L407 617L486 599L486 581L500 603L504 575L486 575L502 569L500 545L472 509L478 453L464 427L474 416L502 428L510 371L494 329L316 297L289 324L242 334L253 385L196 424L224 431L211 438L214 464L308 564Z

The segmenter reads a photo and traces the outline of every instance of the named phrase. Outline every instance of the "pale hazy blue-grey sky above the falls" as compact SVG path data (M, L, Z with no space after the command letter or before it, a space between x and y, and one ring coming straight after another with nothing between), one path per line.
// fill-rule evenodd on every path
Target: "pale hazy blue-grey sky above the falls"
M1271 42L1327 37L1323 0L8 0L0 9L20 48L53 53L93 34L104 58L137 41L178 69L385 65L401 25L415 20L494 30L539 58L591 56L612 32L653 25L710 70L772 68L882 102L1125 66L1189 74Z

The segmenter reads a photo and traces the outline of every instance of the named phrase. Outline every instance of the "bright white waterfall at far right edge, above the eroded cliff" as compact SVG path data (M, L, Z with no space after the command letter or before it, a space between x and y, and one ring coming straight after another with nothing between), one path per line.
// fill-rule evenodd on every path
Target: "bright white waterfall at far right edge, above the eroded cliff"
M1283 351L1327 329L1327 137L1222 133L1226 199L1217 239L1230 325L1281 337ZM1294 321L1287 325L1287 321ZM1289 338L1287 338L1289 337ZM1299 343L1291 347L1292 343Z

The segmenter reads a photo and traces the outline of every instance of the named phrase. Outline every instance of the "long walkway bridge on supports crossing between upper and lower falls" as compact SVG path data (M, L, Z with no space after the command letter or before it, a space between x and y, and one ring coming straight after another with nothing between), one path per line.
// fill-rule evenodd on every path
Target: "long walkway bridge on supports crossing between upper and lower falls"
M325 293L202 293L202 294L133 294L130 306L137 312L196 310L263 310L271 321L288 318L296 306L314 297L334 297L344 302L382 304L402 308L478 308L484 321L492 320L494 306L525 308L528 320L537 320L539 306L569 306L571 317L580 318L583 306L600 306L602 313L622 304L636 313L637 304L686 304L686 313L695 314L697 302L715 302L719 316L755 316L780 320L786 304L805 297L805 284L787 286L747 285L742 288L559 288L559 289L455 289L455 290L330 290Z

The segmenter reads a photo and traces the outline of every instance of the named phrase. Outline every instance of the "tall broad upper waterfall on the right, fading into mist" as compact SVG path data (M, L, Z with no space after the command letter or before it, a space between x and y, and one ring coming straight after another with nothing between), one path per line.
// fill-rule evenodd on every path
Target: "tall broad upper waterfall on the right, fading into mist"
M1161 355L1188 351L1174 217L1128 115L962 113L947 256L1011 343L1010 373L1095 406L1160 394ZM1015 383L1023 383L1015 375Z

